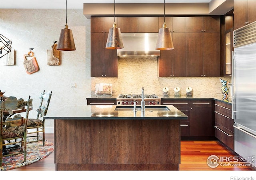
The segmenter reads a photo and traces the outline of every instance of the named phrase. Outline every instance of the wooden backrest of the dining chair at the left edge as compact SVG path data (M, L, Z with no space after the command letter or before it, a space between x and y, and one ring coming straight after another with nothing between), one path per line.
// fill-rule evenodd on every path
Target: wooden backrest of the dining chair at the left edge
M13 114L13 110L17 109L24 109L25 106L26 109L26 118L23 118L21 116L18 116L14 119L6 120L4 122L4 112L9 112L9 114ZM32 99L30 99L30 96L27 101L24 101L22 98L17 100L16 97L10 96L5 101L2 99L0 100L0 116L1 116L1 126L0 126L0 133L1 133L1 139L2 139L2 128L3 126L7 128L12 126L24 126L24 131L26 130L27 126L27 119L29 114L29 106L32 106Z

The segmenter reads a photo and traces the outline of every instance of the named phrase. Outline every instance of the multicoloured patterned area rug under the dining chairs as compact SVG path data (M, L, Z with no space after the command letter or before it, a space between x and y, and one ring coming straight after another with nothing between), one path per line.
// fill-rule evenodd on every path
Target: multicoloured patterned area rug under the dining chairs
M53 152L53 150L53 143L47 140L45 141L44 146L42 141L28 143L26 162L24 162L23 154L7 156L3 158L3 163L2 166L0 166L0 170L11 170L14 168L19 168L21 166L32 164L33 162L37 162L43 158L46 158Z

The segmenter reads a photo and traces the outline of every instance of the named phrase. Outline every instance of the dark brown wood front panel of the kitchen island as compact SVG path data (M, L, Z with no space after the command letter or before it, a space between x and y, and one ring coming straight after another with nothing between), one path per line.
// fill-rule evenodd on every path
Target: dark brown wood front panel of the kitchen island
M56 170L178 170L180 120L54 120Z

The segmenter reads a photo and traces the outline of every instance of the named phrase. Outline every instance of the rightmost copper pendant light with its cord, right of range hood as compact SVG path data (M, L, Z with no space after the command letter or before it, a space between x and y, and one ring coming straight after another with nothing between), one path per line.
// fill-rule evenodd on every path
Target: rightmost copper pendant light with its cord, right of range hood
M166 24L165 24L165 0L164 0L164 24L163 24L163 27L160 28L159 32L158 32L156 49L157 50L172 50L172 49L174 49L170 28L167 28Z

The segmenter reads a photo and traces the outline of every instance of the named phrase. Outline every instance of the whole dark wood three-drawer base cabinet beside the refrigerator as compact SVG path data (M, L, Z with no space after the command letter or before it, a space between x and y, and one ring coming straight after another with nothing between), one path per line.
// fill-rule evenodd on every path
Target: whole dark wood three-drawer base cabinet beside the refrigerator
M234 150L234 120L232 106L226 102L215 100L215 136L228 148Z

